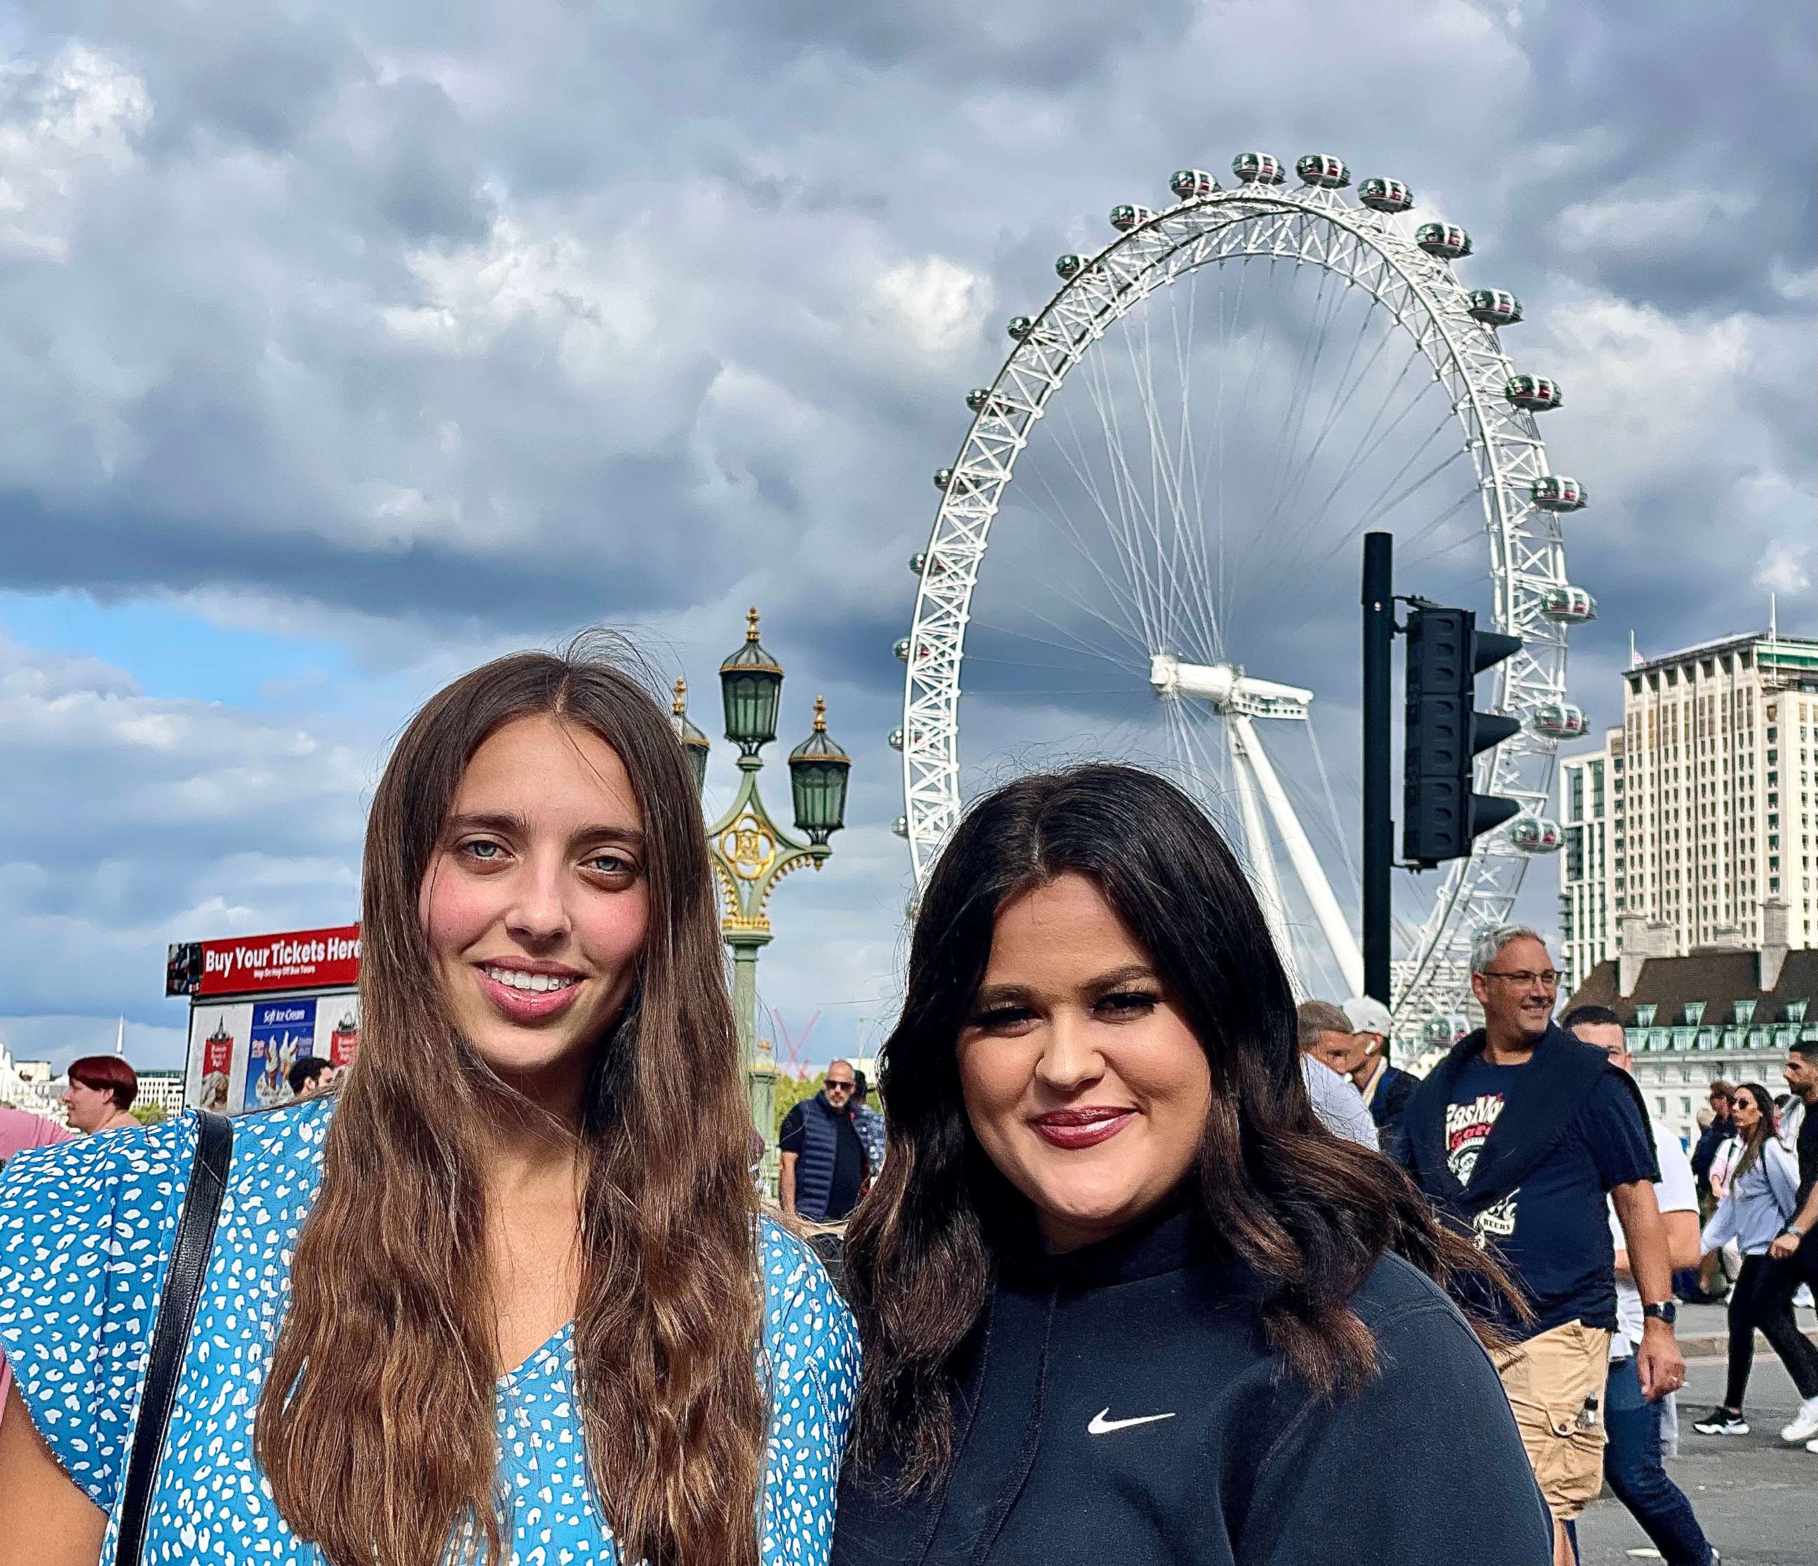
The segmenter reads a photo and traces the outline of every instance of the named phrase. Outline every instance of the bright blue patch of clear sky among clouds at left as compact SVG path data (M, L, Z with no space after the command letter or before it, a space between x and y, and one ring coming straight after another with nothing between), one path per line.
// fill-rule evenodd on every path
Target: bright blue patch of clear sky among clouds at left
M220 626L180 602L0 593L0 631L22 647L125 669L149 697L235 708L289 704L353 673L336 642Z

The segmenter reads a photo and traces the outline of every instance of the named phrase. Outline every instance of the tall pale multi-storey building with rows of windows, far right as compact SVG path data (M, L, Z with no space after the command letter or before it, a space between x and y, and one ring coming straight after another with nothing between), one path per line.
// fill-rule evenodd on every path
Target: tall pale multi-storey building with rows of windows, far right
M1631 915L1654 955L1683 955L1760 948L1762 904L1783 902L1789 948L1818 946L1818 642L1729 637L1636 662L1622 728L1563 760L1560 791L1574 986L1620 953Z

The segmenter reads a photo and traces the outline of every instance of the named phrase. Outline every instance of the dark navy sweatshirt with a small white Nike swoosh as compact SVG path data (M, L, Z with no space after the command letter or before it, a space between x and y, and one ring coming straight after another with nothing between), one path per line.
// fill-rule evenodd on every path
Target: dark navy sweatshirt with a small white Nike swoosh
M1427 1277L1385 1257L1351 1299L1382 1373L1338 1404L1282 1370L1264 1297L1194 1211L1007 1259L953 1471L894 1502L847 1464L833 1566L1551 1566L1502 1382Z

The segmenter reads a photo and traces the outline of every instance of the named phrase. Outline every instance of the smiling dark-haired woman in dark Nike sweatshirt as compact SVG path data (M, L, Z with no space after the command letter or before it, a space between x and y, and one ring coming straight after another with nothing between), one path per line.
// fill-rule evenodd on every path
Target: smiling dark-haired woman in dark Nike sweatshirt
M847 1231L833 1559L1543 1566L1489 1271L1327 1133L1229 848L1133 768L984 798L922 893Z

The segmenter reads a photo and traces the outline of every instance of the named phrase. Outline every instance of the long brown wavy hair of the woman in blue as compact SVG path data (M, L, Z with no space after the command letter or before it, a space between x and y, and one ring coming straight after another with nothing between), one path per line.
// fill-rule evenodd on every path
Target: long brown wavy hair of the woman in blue
M256 1424L278 1510L333 1566L507 1555L482 1126L525 1102L451 1026L418 893L473 753L529 715L618 753L647 842L649 937L598 1040L574 1149L593 1490L622 1561L758 1561L769 1410L744 1071L694 780L631 668L625 644L596 637L474 669L411 720L373 798L360 1055Z

